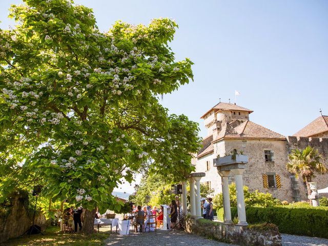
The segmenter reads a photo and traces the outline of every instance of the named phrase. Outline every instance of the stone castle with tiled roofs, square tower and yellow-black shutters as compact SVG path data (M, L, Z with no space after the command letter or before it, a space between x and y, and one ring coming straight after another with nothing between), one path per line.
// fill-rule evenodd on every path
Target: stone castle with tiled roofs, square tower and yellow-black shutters
M213 166L213 159L236 150L249 157L243 184L251 191L269 192L289 202L306 200L303 181L286 170L288 155L292 149L315 147L328 167L328 116L320 116L293 136L285 137L250 121L252 112L236 104L220 102L201 116L208 136L203 138L203 147L194 165L196 172L206 173L202 182L214 189L215 194L221 193L221 177ZM318 189L326 188L328 174L316 174L312 181L318 182Z

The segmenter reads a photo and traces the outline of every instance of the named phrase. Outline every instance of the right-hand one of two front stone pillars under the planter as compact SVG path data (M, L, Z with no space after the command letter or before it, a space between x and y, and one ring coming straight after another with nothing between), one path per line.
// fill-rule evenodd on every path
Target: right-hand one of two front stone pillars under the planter
M231 171L235 175L236 181L238 226L247 226L248 223L246 221L244 190L242 185L242 173L244 172L244 169L233 169Z

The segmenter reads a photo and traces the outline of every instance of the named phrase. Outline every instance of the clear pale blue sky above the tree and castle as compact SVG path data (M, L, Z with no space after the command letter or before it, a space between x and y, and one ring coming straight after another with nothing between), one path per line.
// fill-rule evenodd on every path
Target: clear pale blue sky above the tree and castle
M11 3L1 1L7 28ZM165 95L170 113L199 118L221 101L254 110L250 120L292 135L322 113L328 115L328 1L78 0L93 8L107 31L115 20L147 25L171 17L179 29L171 47L176 59L191 58L194 82Z

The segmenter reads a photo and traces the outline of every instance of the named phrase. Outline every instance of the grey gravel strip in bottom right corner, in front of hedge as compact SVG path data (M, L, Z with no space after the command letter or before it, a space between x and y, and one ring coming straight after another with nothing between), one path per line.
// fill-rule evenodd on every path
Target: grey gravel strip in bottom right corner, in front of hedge
M327 246L328 239L281 233L282 246Z

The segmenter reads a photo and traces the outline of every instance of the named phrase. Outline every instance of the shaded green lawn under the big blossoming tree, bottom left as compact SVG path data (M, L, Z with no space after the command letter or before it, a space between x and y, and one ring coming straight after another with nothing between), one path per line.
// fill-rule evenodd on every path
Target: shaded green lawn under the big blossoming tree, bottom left
M101 228L103 229L103 228ZM99 233L92 234L90 236L85 236L82 234L70 234L59 232L58 227L49 227L44 234L29 235L10 239L6 243L0 244L1 246L57 246L57 245L68 245L68 246L93 246L102 245L106 238L109 237L107 230L101 230ZM105 228L104 228L105 229ZM115 233L115 231L114 231Z

